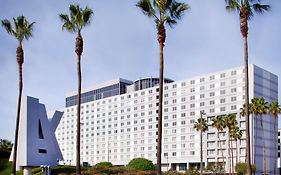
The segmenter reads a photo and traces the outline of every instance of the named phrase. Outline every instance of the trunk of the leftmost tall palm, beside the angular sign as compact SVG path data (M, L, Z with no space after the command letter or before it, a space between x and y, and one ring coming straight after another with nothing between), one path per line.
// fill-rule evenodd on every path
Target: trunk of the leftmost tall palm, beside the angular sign
M19 123L20 123L20 111L21 111L21 98L22 98L22 89L23 89L23 80L22 80L22 65L24 62L22 43L19 42L17 48L17 63L18 63L18 74L19 74L19 96L18 96L18 106L17 106L17 119L16 119L16 130L15 130L15 141L14 141L14 154L13 154L13 167L12 175L16 175L17 167L17 151L18 151L18 135L19 135Z

